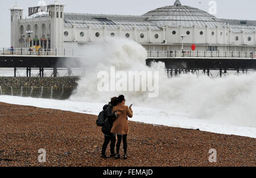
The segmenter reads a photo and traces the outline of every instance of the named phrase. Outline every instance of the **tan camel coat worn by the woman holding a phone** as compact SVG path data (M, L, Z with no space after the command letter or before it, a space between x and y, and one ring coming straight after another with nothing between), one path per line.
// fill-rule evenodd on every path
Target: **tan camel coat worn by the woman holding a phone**
M129 123L128 123L128 117L133 117L133 110L129 109L128 106L118 104L117 106L113 107L113 113L116 113L117 111L121 112L121 115L115 119L113 122L113 127L111 130L111 133L113 134L122 134L122 135L128 135L129 134Z

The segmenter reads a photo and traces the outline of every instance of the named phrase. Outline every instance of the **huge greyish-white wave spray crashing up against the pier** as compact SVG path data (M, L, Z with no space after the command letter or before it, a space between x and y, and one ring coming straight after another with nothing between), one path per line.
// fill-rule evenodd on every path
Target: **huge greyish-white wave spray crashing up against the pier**
M81 51L81 50L80 50ZM86 46L86 76L79 81L70 100L106 103L113 96L125 94L127 104L187 113L193 118L216 123L256 127L256 74L209 78L184 74L168 78L161 63L153 69L145 65L146 50L130 40L112 39ZM147 92L99 92L99 71L159 71L159 96L148 98ZM144 81L142 81L144 82ZM157 119L157 118L156 118Z

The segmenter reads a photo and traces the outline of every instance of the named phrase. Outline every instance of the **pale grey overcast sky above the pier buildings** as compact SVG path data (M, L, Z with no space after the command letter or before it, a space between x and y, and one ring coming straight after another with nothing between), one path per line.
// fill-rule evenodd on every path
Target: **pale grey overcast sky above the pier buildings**
M23 7L24 15L28 15L28 7L37 6L39 1L17 0ZM89 14L120 14L142 15L158 7L173 5L175 0L60 0L65 6L66 13ZM208 11L210 0L180 0L182 5L197 7ZM54 0L46 0L52 3ZM201 3L200 3L201 2ZM216 0L217 18L256 20L255 0ZM10 47L10 7L15 5L15 0L0 2L0 47Z

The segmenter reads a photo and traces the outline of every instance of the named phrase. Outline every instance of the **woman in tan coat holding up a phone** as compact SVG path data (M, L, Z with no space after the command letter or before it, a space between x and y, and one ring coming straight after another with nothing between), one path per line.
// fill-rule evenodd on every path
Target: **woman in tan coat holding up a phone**
M119 150L121 146L121 142L123 140L123 159L127 159L127 135L129 134L129 123L128 117L133 117L133 110L131 106L128 107L125 105L125 97L123 95L119 96L116 99L117 105L113 107L113 113L119 112L117 119L113 122L113 127L111 133L117 134L117 154L115 155L115 159L119 159Z

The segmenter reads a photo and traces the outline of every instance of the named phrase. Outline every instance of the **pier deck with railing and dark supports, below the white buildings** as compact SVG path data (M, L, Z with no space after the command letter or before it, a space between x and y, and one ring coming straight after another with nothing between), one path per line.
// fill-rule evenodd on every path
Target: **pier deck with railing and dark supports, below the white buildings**
M61 55L59 55L61 54ZM177 76L181 73L203 73L208 76L211 71L218 71L222 77L228 71L237 74L255 71L255 52L240 51L147 51L146 64L163 62L168 76ZM67 53L57 49L38 49L32 51L26 48L0 49L0 68L24 68L27 77L31 77L31 70L38 70L37 77L44 77L44 70L52 69L52 76L57 77L59 69L67 70L71 76L73 69L82 69L86 57Z

